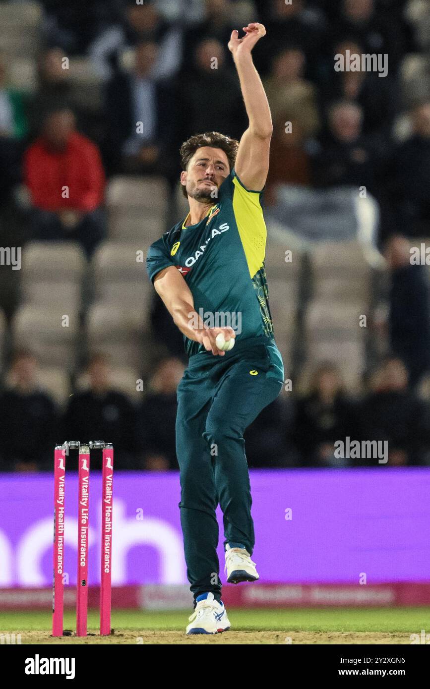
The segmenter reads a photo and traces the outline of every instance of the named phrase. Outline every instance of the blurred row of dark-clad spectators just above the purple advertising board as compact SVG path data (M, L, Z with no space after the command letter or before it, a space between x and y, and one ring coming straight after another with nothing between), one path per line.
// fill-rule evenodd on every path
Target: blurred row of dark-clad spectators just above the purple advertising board
M142 393L132 400L112 385L109 361L94 353L85 384L74 388L60 409L37 384L37 359L17 351L0 395L0 471L51 471L52 448L60 438L109 439L118 469L178 469L175 449L176 386L184 364L165 358ZM321 363L303 394L283 391L245 432L249 466L378 466L376 456L337 457L335 443L387 442L389 466L430 464L430 413L408 386L405 364L387 357L364 381L354 398L345 392L338 368ZM61 441L63 442L63 441ZM74 453L76 454L76 453ZM77 455L68 460L76 469ZM100 468L94 451L94 468Z

